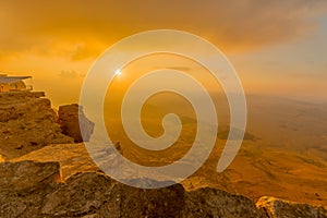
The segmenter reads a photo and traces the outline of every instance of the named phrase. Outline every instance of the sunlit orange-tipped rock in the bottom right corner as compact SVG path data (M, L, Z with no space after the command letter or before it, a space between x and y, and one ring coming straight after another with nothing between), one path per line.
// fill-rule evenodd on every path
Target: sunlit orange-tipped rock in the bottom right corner
M307 204L299 204L264 196L256 203L262 213L269 218L326 218L327 213L323 207L316 208Z

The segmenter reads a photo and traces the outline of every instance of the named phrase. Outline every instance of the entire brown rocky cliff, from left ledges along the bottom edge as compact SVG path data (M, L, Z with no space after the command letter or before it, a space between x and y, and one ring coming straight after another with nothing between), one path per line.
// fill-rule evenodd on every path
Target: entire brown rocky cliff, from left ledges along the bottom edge
M0 217L327 217L323 207L268 196L255 203L213 187L121 184L74 144L83 141L78 117L86 135L94 128L80 112L70 105L57 114L41 92L0 94Z

